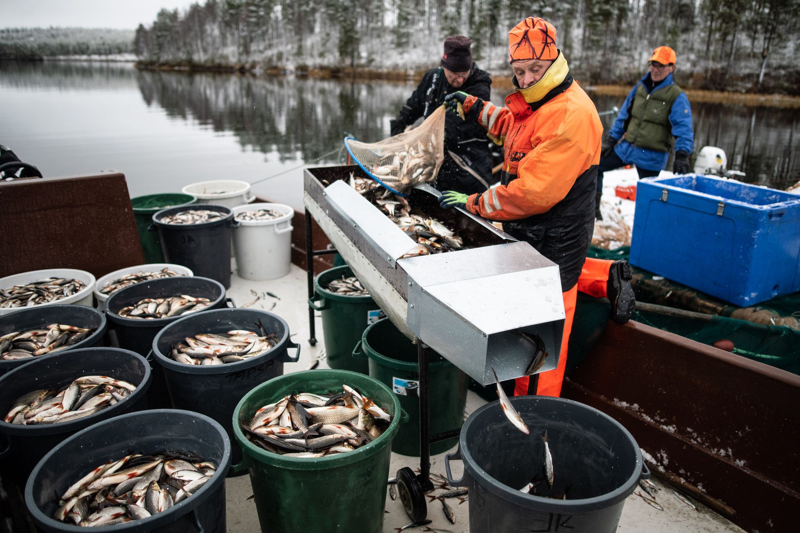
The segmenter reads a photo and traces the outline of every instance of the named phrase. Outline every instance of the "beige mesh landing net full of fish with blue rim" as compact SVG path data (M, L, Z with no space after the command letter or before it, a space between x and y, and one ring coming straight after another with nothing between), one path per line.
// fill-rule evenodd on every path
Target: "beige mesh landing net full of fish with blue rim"
M415 185L436 179L445 158L445 113L442 105L410 132L378 142L346 137L345 146L372 179L406 195Z

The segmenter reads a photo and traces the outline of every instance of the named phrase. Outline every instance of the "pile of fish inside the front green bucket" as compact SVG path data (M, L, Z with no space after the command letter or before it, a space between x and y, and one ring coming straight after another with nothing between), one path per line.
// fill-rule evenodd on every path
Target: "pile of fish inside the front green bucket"
M258 447L286 457L322 457L353 451L381 436L392 417L371 398L342 385L342 392L298 392L255 412L242 424Z

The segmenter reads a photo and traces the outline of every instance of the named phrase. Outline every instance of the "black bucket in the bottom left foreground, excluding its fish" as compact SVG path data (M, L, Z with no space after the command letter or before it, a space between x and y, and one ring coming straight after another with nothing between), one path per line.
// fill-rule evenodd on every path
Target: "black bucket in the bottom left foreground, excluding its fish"
M62 494L81 475L130 453L164 449L187 451L217 465L217 473L190 498L142 520L100 527L98 531L224 532L225 475L230 440L222 427L195 412L157 409L117 416L94 424L58 444L34 468L25 487L25 503L34 523L45 531L86 531L86 527L51 518Z

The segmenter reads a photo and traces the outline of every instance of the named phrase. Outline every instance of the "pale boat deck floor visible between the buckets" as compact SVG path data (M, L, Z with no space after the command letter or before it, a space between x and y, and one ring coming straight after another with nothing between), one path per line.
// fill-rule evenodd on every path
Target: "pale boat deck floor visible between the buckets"
M306 290L306 272L297 265L292 265L291 272L278 280L243 280L234 273L231 288L228 290L228 296L234 299L238 307L258 308L274 312L289 323L290 335L294 342L302 344L302 350L298 363L286 364L285 372L305 370L312 360L319 358L321 355L323 358L320 360L318 368L327 368L323 353L324 343L322 342L321 320L318 320L316 324L318 344L312 347L308 343L309 328ZM279 299L266 294L266 292L271 292L278 296ZM470 391L466 402L466 413L473 412L483 404L486 404L486 401ZM444 454L432 455L431 471L443 475L443 459ZM390 472L397 471L405 466L416 469L419 467L419 459L393 453ZM453 474L460 477L460 463L457 461L453 466ZM626 501L618 531L648 531L649 533L744 531L734 523L705 507L702 503L694 502L698 507L698 511L694 511L694 509L678 499L671 488L665 483L661 483L658 478L654 478L653 482L664 489L656 495L656 499L662 505L664 511L658 511L658 509L650 507L649 504L635 495L634 491L634 494L630 495ZM252 499L249 499L252 494L253 491L250 488L248 475L226 480L227 524L230 533L260 531L255 503ZM321 494L324 494L324 491ZM452 499L448 503L454 510L455 524L447 521L441 505L438 502L434 502L428 506L428 518L433 520L429 527L450 530L454 533L466 533L469 531L469 500L467 499L464 503L458 504L457 499ZM405 511L403 511L399 499L392 501L387 495L386 511L383 531L387 533L392 533L395 528L403 527L410 522ZM422 527L410 531L422 531Z

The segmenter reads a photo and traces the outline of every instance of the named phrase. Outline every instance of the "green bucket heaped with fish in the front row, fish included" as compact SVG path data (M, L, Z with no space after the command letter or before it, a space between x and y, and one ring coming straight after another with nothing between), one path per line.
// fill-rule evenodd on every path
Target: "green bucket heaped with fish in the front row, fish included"
M386 385L346 370L293 372L248 392L234 412L245 459L232 468L250 471L262 531L383 531L401 418ZM311 511L287 504L309 498Z

